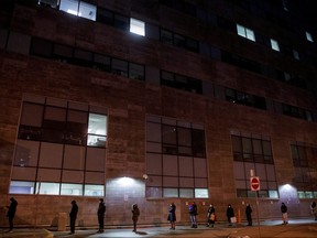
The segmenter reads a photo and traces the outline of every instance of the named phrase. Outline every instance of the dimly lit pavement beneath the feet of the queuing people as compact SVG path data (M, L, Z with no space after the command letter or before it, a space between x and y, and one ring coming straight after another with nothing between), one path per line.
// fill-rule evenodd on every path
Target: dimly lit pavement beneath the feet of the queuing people
M174 238L309 238L317 237L317 221L314 219L291 219L287 225L282 225L281 220L265 220L254 224L252 227L245 224L228 226L226 223L216 224L214 228L199 225L198 228L190 226L177 226L171 230L170 226L140 226L136 232L132 232L132 227L106 228L105 232L97 234L97 229L79 229L75 235L67 231L56 231L45 228L17 228L13 232L0 230L0 238L130 238L130 237L174 237Z

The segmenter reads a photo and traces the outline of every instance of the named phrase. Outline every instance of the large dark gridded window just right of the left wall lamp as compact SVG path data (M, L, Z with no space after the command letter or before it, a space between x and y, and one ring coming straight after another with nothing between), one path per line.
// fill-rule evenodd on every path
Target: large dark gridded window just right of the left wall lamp
M208 197L205 130L146 117L146 197Z

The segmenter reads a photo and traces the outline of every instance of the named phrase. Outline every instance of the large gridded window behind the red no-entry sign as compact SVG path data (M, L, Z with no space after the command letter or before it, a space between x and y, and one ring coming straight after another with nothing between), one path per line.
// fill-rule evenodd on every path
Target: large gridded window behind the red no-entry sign
M250 171L260 177L260 197L277 198L277 183L269 138L259 134L241 134L231 131L233 173L238 197L253 197L250 186Z

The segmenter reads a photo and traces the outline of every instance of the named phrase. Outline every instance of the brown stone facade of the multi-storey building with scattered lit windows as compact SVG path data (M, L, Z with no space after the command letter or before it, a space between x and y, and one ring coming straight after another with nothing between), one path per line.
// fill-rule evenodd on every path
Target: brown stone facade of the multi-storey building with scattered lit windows
M317 199L313 1L0 3L0 202L17 224L205 223ZM250 178L260 178L251 190ZM258 186L256 186L258 187ZM253 187L254 188L254 187ZM6 226L2 219L1 225Z

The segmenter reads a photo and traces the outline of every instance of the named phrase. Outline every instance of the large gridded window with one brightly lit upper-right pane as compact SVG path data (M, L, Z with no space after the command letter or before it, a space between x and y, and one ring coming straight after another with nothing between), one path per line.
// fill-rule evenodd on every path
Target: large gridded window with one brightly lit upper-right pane
M25 96L10 193L103 195L107 123L105 108Z

